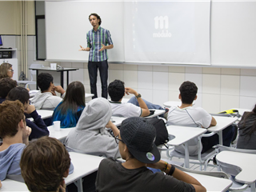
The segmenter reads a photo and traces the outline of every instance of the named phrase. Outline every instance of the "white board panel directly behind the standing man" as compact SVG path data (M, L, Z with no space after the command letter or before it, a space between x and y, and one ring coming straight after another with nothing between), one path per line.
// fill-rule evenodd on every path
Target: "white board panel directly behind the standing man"
M89 15L97 13L102 27L110 30L114 49L107 50L110 62L124 61L122 2L47 1L46 60L86 62L89 52L86 33L92 30Z

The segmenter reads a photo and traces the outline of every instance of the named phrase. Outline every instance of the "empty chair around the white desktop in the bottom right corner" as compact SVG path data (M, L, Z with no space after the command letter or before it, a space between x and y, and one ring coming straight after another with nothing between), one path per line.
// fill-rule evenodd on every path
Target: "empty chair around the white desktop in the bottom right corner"
M239 153L247 153L247 154L256 154L256 150L243 150L243 149L236 149L233 147L228 147L228 146L222 146L222 145L217 145L214 146L216 154L224 151L224 150L230 150L230 151L234 151L234 152L239 152ZM232 176L236 176L237 174L239 174L241 172L241 168L238 166L234 166L234 165L230 165L224 162L218 162L218 170L223 170L226 174L230 174L230 180L233 182L232 186L238 186L236 188L234 187L230 187L230 191L243 191L246 190L247 187L250 186L250 190L251 191L255 191L255 183L248 185L248 184L242 184L239 182L236 182L234 180L234 177Z

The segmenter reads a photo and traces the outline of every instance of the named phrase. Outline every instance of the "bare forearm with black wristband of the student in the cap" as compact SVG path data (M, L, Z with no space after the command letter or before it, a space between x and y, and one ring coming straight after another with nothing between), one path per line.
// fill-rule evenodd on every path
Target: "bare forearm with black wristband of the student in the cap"
M166 162L160 160L159 162L153 163L153 164L147 164L146 166L155 168L155 169L160 169L160 170L165 170L166 167ZM167 165L168 169L165 170L166 174L170 174L171 170L171 165ZM197 179L193 178L189 174L184 173L182 170L175 169L174 173L171 174L174 178L177 178L178 180L186 183L190 183L192 186L194 186L195 191L197 192L204 192L206 191L206 188L201 185L200 182L198 182Z

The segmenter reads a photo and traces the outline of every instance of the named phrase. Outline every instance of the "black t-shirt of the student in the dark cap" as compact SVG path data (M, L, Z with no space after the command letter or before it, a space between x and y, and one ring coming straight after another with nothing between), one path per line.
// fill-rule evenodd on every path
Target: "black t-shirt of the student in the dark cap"
M195 191L194 186L170 175L153 174L146 166L128 170L105 158L98 167L96 191Z

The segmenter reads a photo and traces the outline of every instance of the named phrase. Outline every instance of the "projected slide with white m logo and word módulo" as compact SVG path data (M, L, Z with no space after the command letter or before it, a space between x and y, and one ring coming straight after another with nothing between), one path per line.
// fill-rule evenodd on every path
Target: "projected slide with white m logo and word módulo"
M126 2L126 62L210 64L210 2Z

